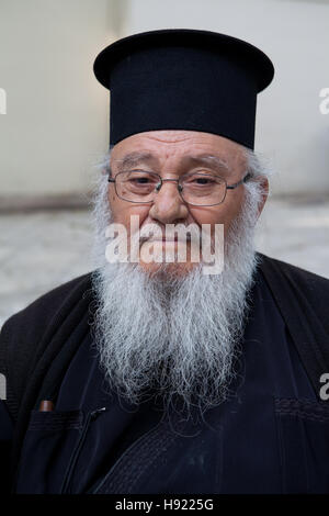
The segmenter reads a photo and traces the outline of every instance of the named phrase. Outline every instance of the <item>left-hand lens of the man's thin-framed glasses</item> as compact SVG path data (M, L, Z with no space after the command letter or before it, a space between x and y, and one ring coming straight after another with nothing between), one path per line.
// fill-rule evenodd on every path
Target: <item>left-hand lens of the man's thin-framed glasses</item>
M160 179L157 173L144 170L128 170L117 173L116 193L125 201L150 202Z

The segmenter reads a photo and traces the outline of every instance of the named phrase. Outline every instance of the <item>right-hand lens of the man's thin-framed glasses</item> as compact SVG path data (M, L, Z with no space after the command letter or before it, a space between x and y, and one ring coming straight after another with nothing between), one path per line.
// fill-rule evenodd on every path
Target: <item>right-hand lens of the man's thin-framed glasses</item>
M226 194L226 181L206 172L183 176L180 181L182 198L186 203L197 206L220 204Z

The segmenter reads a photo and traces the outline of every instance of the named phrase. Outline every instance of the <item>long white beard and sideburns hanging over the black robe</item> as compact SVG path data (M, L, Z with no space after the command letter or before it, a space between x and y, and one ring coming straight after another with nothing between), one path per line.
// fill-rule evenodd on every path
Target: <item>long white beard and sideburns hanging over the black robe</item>
M138 263L105 260L107 184L94 206L94 341L111 389L131 403L150 393L203 412L223 402L235 377L257 258L253 233L259 194L247 191L225 242L223 273L202 265L185 277L150 277ZM252 187L251 187L252 188Z

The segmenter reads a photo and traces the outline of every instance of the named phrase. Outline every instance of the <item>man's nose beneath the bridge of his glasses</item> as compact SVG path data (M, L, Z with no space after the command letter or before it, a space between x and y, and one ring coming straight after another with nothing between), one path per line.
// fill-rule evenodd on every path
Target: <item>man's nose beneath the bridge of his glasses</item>
M159 190L155 192L154 203L149 215L162 224L173 224L185 220L189 210L179 193L177 181L163 181Z

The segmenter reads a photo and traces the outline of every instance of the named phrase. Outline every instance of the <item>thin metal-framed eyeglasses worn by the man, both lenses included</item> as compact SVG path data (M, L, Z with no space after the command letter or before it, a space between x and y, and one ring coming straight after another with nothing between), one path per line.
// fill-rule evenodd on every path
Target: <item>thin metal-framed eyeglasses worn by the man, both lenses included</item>
M111 170L110 170L111 175ZM222 204L227 190L234 190L247 182L251 173L247 173L235 184L227 184L226 180L207 170L197 170L185 173L178 179L162 179L158 173L148 170L126 170L118 172L114 178L109 176L109 182L114 183L116 195L123 201L138 204L149 204L156 199L163 182L174 181L178 191L186 204L193 206L215 206Z

